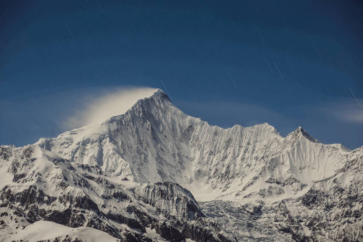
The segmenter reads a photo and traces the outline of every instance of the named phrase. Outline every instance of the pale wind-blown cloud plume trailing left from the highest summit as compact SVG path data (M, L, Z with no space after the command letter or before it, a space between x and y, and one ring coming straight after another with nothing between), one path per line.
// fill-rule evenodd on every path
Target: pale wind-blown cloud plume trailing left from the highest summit
M143 88L123 88L117 89L96 97L91 102L85 102L82 110L75 110L75 113L64 122L68 128L79 128L89 124L99 124L112 116L124 114L139 99L150 97L156 89L150 87Z

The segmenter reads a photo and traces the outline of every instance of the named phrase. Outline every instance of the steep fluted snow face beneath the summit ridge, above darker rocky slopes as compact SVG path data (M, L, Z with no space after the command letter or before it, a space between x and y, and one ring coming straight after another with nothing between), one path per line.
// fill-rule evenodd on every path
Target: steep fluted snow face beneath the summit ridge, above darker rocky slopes
M331 176L350 152L319 143L301 127L283 138L267 123L210 126L184 114L160 89L123 115L36 145L79 164L98 165L109 175L172 181L194 194L207 190L208 197L197 196L201 200L240 200L253 192L291 196Z

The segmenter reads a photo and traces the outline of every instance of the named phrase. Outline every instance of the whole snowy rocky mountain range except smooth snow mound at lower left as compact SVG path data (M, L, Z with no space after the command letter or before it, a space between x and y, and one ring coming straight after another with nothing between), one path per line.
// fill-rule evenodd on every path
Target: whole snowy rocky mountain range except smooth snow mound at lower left
M362 164L363 147L301 127L210 126L158 89L102 124L1 146L0 241L40 220L122 241L363 241Z

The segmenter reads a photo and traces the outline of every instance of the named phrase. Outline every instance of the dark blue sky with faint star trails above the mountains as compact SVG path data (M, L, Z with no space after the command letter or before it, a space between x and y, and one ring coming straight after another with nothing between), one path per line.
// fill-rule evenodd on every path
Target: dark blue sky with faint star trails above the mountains
M0 9L0 144L57 136L85 100L149 86L213 125L268 122L284 136L302 126L323 143L363 145L359 1L29 0Z

